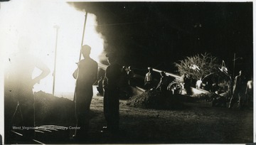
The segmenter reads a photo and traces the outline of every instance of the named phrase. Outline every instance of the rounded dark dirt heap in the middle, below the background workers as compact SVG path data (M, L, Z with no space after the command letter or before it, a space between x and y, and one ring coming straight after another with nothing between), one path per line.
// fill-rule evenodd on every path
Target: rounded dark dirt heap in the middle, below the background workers
M171 95L171 92L161 93L159 90L146 90L141 95L127 100L127 105L144 109L181 109L184 106L178 96Z

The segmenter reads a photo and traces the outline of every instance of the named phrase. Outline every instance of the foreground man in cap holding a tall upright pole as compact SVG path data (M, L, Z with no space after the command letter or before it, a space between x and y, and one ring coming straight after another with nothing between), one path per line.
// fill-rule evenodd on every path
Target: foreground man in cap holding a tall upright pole
M90 58L90 46L82 45L81 53L84 57L78 63L78 68L73 73L77 80L75 86L75 113L77 116L77 127L75 137L82 139L82 134L87 132L89 127L90 103L92 101L92 85L97 80L97 62Z

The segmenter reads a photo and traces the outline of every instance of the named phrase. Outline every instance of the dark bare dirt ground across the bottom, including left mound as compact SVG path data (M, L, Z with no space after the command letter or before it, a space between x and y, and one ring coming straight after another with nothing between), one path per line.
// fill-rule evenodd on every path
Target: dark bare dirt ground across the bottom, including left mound
M95 91L96 92L96 91ZM37 94L36 126L75 127L73 103L65 98ZM48 106L46 107L46 104ZM211 107L210 102L182 103L172 109L142 109L130 107L120 100L121 132L114 136L101 133L106 125L103 97L95 95L91 104L90 130L85 141L73 141L74 129L49 129L36 133L44 144L245 144L253 141L252 108ZM40 122L39 122L40 121ZM42 130L41 130L42 131ZM20 131L23 133L23 131ZM11 144L36 144L12 136Z

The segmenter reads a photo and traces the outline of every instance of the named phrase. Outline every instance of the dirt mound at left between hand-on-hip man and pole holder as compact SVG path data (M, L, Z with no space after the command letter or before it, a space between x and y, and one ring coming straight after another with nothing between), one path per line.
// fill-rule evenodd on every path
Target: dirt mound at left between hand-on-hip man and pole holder
M75 124L75 103L46 92L35 92L35 120L41 124Z

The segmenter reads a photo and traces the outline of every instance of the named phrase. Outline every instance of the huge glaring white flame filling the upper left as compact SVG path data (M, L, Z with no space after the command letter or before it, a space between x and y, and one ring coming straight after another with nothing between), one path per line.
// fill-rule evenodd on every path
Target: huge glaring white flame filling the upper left
M18 38L31 40L31 53L41 58L53 73L55 57L56 28L58 47L55 73L55 92L74 92L75 79L72 74L79 60L85 12L78 11L64 1L12 0L1 3L0 48L4 60L18 51ZM83 44L90 45L91 58L99 62L104 40L97 33L96 16L87 15ZM34 75L40 72L35 71ZM51 93L53 75L48 75L34 86L34 91ZM55 93L58 94L58 93Z

